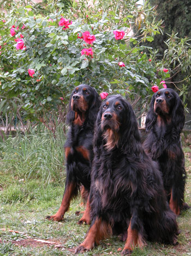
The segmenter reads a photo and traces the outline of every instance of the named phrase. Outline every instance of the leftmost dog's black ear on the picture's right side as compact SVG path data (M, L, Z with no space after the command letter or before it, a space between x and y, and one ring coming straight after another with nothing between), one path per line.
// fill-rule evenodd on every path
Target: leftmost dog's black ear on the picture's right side
M93 97L93 102L91 103L91 107L89 108L88 121L90 124L94 125L94 123L96 122L97 114L102 101L99 94L96 92L96 89L92 88L92 90L93 90L94 97Z

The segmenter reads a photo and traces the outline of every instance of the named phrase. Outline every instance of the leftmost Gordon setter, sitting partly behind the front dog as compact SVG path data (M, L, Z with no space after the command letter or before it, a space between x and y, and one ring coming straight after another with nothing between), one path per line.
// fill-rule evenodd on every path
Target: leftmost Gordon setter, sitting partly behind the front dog
M87 191L90 189L93 160L92 140L100 104L101 99L96 90L86 84L80 84L71 93L67 113L70 129L64 146L67 168L65 190L58 212L47 216L46 219L61 221L69 209L71 198L77 196L80 185L82 184ZM88 202L87 211L79 223L89 224Z

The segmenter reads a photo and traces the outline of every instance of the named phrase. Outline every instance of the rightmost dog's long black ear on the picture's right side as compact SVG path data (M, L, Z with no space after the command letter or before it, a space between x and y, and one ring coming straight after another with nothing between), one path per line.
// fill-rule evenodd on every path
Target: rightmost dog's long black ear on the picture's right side
M175 105L172 109L172 123L178 133L181 133L185 122L184 106L180 96L175 93Z

